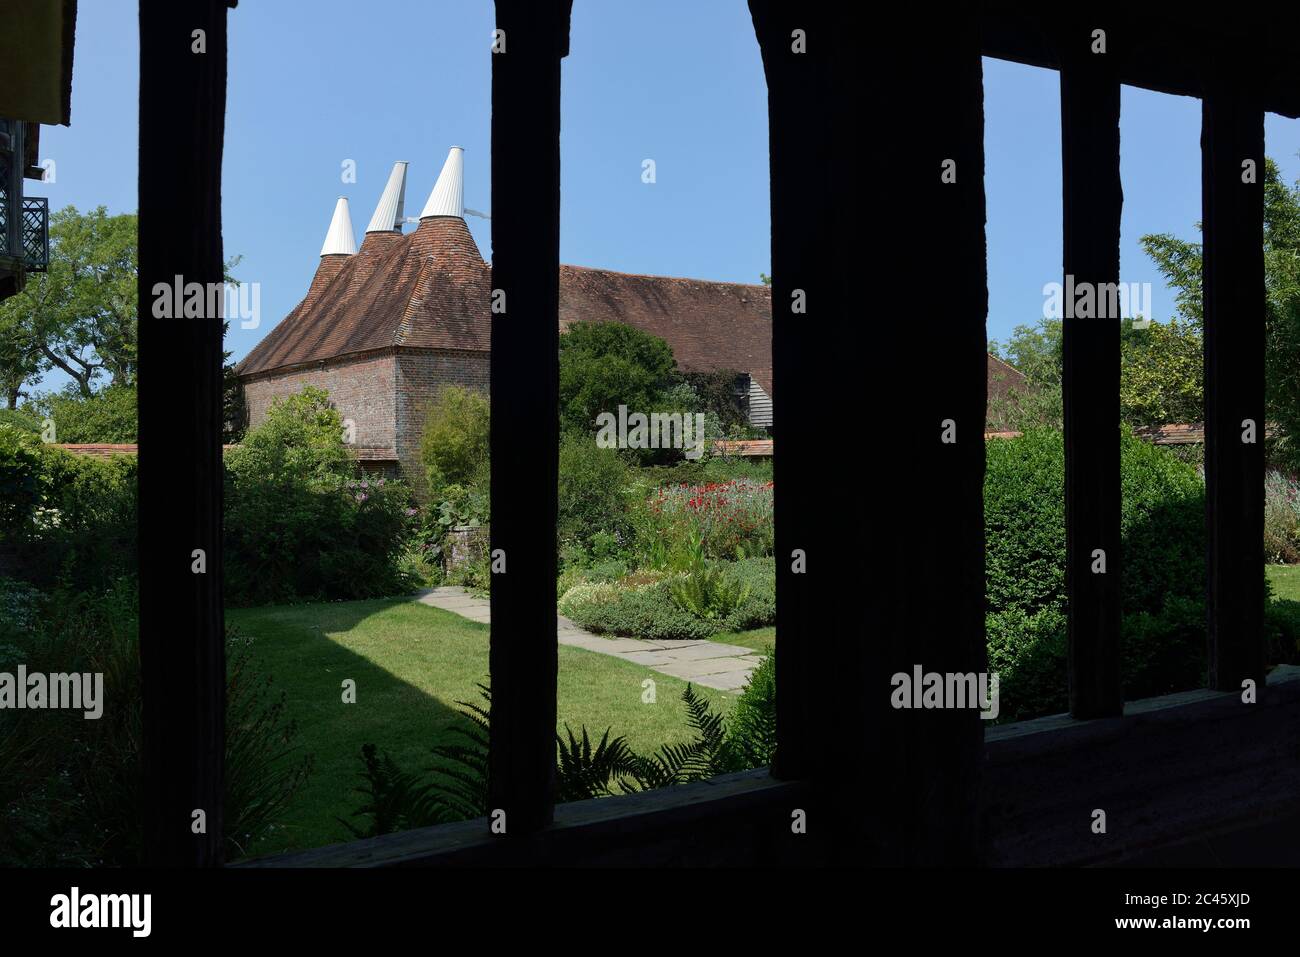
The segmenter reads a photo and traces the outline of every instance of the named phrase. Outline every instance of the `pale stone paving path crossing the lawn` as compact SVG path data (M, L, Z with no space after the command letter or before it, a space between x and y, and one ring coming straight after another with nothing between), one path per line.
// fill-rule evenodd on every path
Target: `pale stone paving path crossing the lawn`
M456 585L425 589L416 596L416 601L454 611L471 622L491 623L491 605L488 599L474 598ZM607 638L578 628L563 615L555 618L562 645L614 655L706 688L738 690L745 687L750 672L763 661L763 655L740 645L724 645L719 641Z

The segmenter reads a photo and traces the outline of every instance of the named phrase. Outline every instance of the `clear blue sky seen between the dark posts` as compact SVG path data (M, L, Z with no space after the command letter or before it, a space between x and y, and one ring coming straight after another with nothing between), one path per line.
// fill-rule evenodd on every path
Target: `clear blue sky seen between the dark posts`
M231 324L235 358L307 291L335 199L348 198L360 237L395 160L411 163L415 216L447 148L464 147L465 204L490 209L491 10L489 0L231 10L225 248L242 256L235 276L260 283L263 312L257 329ZM30 194L55 208L135 209L138 59L134 1L81 4L73 125L43 129L57 181L29 182ZM991 60L984 70L988 334L1005 339L1036 321L1043 285L1061 276L1060 88L1046 70ZM563 261L736 282L770 272L766 91L744 0L576 0L562 130ZM1265 133L1286 178L1300 178L1300 121L1269 114ZM1195 235L1199 137L1197 100L1124 88L1121 278L1153 283L1157 320L1174 298L1138 238ZM646 159L654 185L641 181ZM355 183L341 181L344 160ZM166 161L146 157L146 174ZM490 256L489 224L468 222Z

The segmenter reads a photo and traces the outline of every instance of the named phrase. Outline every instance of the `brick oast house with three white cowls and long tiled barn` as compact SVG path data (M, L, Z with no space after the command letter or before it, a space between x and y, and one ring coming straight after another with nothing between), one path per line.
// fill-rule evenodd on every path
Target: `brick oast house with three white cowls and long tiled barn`
M360 248L338 200L307 295L239 363L250 425L278 397L326 389L363 464L421 484L429 403L446 385L490 385L491 268L465 225L463 169L452 147L419 226L403 233L407 164L395 164ZM684 372L736 372L760 428L775 398L771 308L763 285L560 267L562 329L627 322L666 339ZM991 391L1019 374L1005 364L994 374L994 363Z

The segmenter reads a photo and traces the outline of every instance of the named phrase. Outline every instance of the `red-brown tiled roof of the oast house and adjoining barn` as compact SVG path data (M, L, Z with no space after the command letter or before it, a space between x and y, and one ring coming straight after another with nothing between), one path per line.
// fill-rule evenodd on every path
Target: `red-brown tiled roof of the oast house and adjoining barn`
M486 352L491 269L464 220L367 233L348 257L322 257L299 303L239 364L244 376L407 346ZM686 372L750 373L772 394L766 286L560 267L560 328L627 322L667 339Z

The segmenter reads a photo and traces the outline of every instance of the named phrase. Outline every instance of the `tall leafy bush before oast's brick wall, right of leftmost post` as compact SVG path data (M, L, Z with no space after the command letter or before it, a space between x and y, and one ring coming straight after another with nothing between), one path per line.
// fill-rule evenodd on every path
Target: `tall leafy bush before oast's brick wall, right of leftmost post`
M398 594L410 495L356 477L322 390L277 402L225 456L226 599L257 605ZM410 567L408 564L406 567Z

